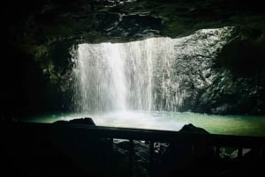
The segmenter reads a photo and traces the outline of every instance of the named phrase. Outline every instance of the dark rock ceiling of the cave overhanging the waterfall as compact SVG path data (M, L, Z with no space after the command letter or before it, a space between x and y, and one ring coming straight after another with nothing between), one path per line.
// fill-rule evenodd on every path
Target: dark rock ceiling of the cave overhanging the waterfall
M202 28L265 29L265 5L239 0L41 0L6 3L9 41L123 42L176 38Z

